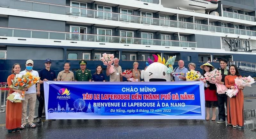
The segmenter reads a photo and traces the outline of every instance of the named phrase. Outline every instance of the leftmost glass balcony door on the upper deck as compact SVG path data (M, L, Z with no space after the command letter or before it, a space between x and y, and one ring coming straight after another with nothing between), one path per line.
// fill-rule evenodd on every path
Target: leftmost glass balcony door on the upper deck
M87 3L81 3L81 2L76 2L76 1L70 1L70 6L71 7L77 7L77 8L70 8L70 13L68 15L74 15L74 16L86 16L86 11L85 9L78 9L78 8L86 8Z

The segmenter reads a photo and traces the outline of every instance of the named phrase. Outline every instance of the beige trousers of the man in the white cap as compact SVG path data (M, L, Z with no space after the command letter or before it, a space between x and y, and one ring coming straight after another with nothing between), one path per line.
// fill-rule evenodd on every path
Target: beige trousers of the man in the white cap
M26 125L27 118L27 108L29 102L29 114L28 114L28 124L32 124L34 121L35 107L36 107L36 93L25 94L25 100L22 101L22 116L21 124Z

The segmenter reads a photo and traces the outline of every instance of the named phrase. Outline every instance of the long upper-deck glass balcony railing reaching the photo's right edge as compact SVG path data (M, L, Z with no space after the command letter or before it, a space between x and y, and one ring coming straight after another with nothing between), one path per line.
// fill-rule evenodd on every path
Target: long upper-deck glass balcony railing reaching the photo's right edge
M128 14L89 10L84 8L70 7L70 6L61 6L56 4L31 2L31 1L25 1L25 0L12 0L12 1L19 2L19 3L15 4L15 7L10 7L10 8L19 9L19 10L39 11L39 12L46 12L46 13L64 14L69 16L79 16L79 17L87 17L87 18L98 18L98 19L104 19L104 20L113 20L113 21L120 21L120 22L145 24L145 25L166 26L166 27L176 27L176 28L185 28L185 29L193 29L193 30L256 36L256 32L251 30L235 29L235 28L228 28L228 27L221 27L221 26L210 26L210 25L204 25L204 24L165 20L165 19L159 19L159 18L148 18L148 17L128 15Z

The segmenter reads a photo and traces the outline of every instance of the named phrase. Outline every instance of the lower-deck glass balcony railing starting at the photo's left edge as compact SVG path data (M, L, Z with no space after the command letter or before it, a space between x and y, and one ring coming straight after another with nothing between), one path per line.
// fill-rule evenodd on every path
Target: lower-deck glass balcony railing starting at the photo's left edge
M188 42L188 41L142 39L142 38L82 34L82 33L66 33L66 32L42 31L42 30L28 30L28 29L16 29L16 28L4 28L4 27L0 27L0 36L196 48L196 42Z

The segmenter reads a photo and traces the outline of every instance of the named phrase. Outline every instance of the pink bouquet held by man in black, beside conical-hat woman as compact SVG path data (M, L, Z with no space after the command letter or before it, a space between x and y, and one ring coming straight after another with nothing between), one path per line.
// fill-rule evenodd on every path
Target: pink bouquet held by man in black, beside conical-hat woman
M217 87L217 93L218 94L224 94L228 88L224 84L218 84L217 82L221 81L222 75L220 74L218 69L214 69L211 72L206 72L204 74L207 81L209 81L211 84L216 84Z

